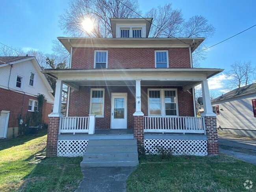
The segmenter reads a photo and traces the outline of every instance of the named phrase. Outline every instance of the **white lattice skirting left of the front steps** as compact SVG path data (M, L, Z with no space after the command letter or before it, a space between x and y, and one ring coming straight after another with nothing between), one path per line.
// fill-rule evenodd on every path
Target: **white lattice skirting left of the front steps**
M58 140L57 156L83 156L88 140Z

